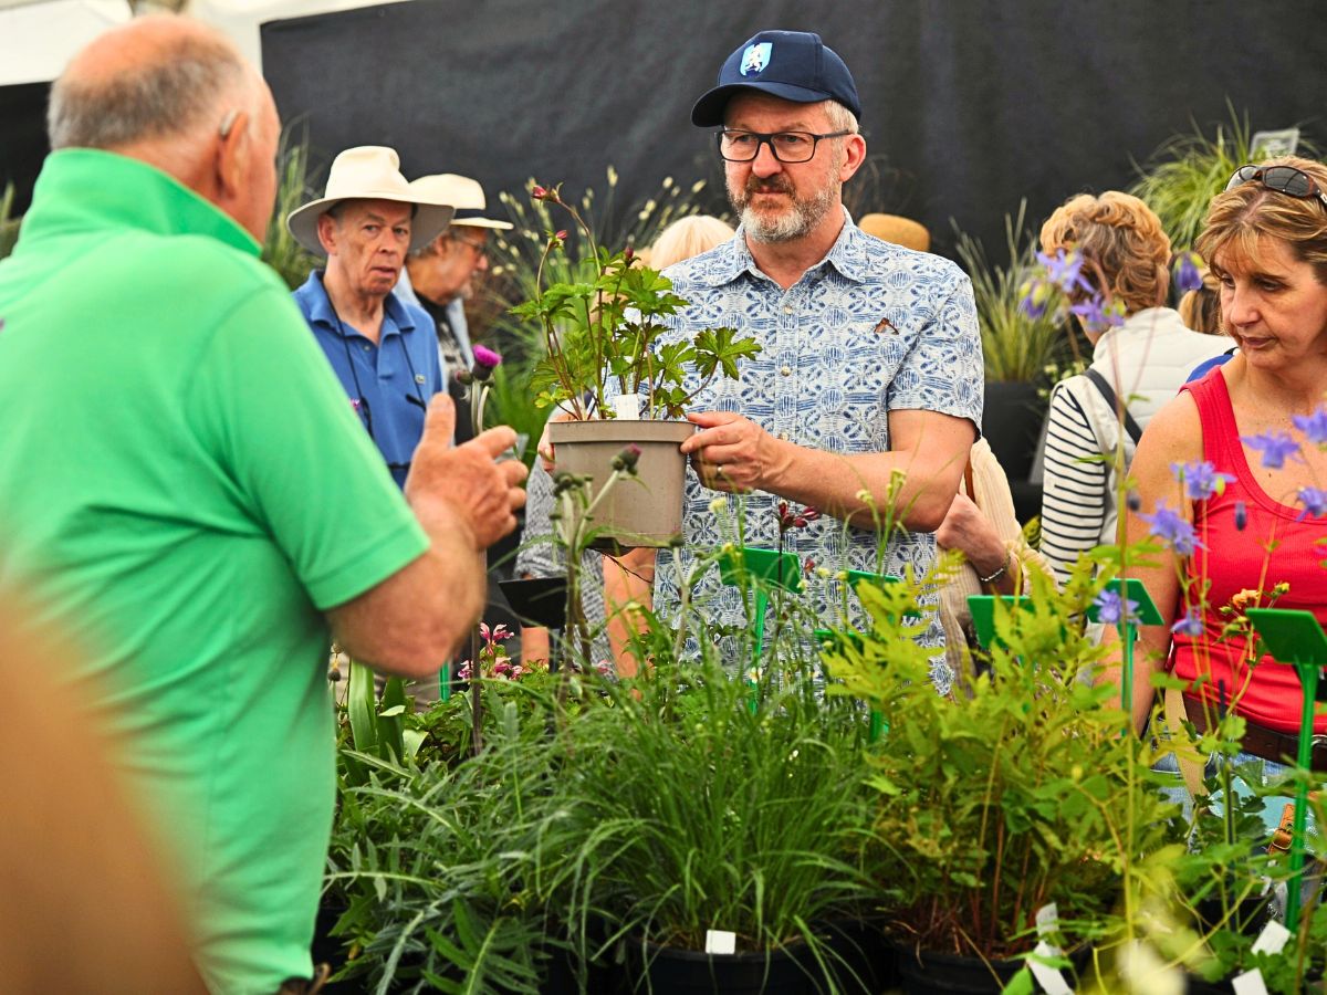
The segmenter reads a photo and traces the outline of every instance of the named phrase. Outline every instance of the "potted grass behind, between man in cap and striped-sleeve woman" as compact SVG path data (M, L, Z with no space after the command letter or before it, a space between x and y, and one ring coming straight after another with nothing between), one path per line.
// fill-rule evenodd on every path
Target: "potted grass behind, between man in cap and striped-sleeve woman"
M959 233L955 251L973 281L977 326L982 336L986 399L982 435L1005 468L1018 517L1040 512L1040 494L1027 479L1032 470L1042 422L1046 419L1046 383L1066 362L1071 342L1054 314L1030 312L1023 305L1023 284L1035 267L1035 245L1024 228L1027 202L1018 215L1005 215L1009 263L993 263L983 245ZM1024 240L1027 239L1027 240Z

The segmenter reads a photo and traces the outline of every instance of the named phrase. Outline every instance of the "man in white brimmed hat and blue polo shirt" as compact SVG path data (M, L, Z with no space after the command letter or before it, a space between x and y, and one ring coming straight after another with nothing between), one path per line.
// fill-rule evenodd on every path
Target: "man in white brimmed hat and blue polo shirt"
M295 291L295 302L403 487L429 399L445 381L433 318L391 288L406 252L445 231L453 208L413 190L399 166L391 149L346 149L332 163L325 196L285 223L301 245L328 259Z

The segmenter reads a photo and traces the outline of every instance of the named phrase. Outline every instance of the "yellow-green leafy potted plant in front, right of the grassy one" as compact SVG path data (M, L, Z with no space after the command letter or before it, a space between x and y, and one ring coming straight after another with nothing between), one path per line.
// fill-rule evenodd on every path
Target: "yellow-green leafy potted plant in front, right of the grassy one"
M871 629L827 650L843 681L829 693L865 699L888 730L869 758L876 874L905 992L1001 991L1050 903L1059 946L1109 938L1124 884L1164 841L1153 748L1121 735L1113 687L1082 679L1100 658L1080 634L1100 584L1089 565L1063 593L1034 574L1028 600L995 606L989 669L955 699L928 685L909 584L864 586Z

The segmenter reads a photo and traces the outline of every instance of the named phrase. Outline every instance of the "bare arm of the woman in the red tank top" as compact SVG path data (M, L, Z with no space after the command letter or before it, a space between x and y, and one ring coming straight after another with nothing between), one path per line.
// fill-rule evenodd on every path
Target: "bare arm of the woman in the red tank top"
M1193 517L1193 505L1184 499L1184 491L1170 472L1170 464L1202 459L1202 425L1198 409L1188 394L1181 394L1166 405L1148 423L1129 475L1136 482L1139 511L1128 511L1125 541L1140 543L1148 539L1149 525L1141 515L1156 511L1158 501L1165 501L1181 515ZM1156 540L1153 540L1156 543ZM1170 625L1178 614L1180 605L1180 559L1169 548L1149 556L1147 561L1129 561L1123 574L1137 577L1148 589L1162 625L1144 625L1139 629L1139 645L1133 654L1133 723L1141 730L1152 708L1151 677L1158 667L1165 667L1170 654ZM1123 646L1119 633L1111 628L1103 637L1103 645L1109 647L1107 667L1097 678L1115 686L1120 685L1123 667Z

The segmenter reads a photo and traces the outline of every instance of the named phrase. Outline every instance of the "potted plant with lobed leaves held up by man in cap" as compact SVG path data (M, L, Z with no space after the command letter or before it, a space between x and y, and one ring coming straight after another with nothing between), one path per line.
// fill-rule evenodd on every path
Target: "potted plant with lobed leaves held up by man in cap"
M549 426L557 467L598 483L616 454L638 447L637 484L620 488L596 508L596 521L604 527L598 545L667 545L682 529L686 463L678 446L693 431L677 419L713 378L736 378L738 362L755 356L759 345L731 328L670 338L662 320L686 304L671 293L671 283L642 265L630 247L610 252L597 245L557 187L536 184L532 196L572 216L593 267L592 279L545 285L545 267L565 249L568 237L565 231L551 232L535 295L512 309L544 334L545 354L529 386L535 403L569 415Z

